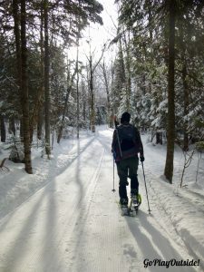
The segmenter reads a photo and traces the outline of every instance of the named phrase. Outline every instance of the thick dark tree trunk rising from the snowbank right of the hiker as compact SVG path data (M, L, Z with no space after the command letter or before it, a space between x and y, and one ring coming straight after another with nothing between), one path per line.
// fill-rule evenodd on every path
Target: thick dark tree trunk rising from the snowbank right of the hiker
M167 117L167 155L164 175L172 183L175 140L175 103L174 103L174 65L175 65L175 20L176 1L170 1L169 19L169 69L168 69L168 117Z

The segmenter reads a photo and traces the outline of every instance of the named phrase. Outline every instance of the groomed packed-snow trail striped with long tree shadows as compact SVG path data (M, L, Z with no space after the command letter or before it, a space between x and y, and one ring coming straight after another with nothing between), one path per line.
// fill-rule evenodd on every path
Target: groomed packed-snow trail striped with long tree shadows
M141 209L137 217L121 217L111 141L112 131L78 141L69 167L1 220L0 271L165 271L145 268L145 259L193 259L152 193L148 214L141 167Z

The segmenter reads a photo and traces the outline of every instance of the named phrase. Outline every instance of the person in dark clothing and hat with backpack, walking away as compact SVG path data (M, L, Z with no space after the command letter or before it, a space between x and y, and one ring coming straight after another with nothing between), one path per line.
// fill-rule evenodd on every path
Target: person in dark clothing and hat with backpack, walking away
M128 205L126 186L128 178L131 179L131 198L137 199L139 192L138 165L144 161L143 145L138 129L130 124L131 114L121 114L121 125L116 127L112 137L112 152L117 165L119 176L119 197L121 206Z

